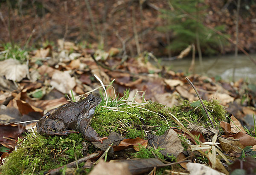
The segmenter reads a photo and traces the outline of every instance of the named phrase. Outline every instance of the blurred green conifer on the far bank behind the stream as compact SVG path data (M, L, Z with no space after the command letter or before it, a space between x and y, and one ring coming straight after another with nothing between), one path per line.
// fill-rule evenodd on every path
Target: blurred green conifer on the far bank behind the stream
M199 43L202 52L205 54L215 54L219 48L219 42L222 39L213 31L207 29L203 25L204 21L198 23L188 16L189 14L198 20L203 20L207 14L207 6L204 4L204 1L172 0L170 4L174 10L162 10L161 15L167 21L167 25L158 28L163 32L172 31L173 38L167 49L177 53L193 43ZM184 14L180 9L186 11L188 14ZM224 30L224 27L218 26L215 29ZM224 42L227 43L223 40L222 43Z

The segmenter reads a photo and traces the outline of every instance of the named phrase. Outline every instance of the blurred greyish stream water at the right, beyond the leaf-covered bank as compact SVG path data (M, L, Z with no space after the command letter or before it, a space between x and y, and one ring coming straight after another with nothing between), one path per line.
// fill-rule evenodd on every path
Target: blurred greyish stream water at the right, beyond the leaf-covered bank
M256 60L256 54L251 55ZM166 60L162 58L161 65L175 72L187 72L191 58ZM222 79L231 81L235 67L235 80L244 78L249 83L256 83L256 65L245 55L223 55L203 57L202 71L209 77L221 76ZM201 74L198 58L195 58L195 73Z

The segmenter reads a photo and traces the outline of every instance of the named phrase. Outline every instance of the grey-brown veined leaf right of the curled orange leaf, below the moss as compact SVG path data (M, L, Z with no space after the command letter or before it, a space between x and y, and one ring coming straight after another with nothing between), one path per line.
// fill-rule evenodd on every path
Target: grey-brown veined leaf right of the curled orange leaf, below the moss
M160 150L160 152L166 157L171 154L177 157L177 155L184 149L181 145L180 138L178 138L177 133L173 129L167 130L160 136L148 134L148 143L154 148L165 148Z

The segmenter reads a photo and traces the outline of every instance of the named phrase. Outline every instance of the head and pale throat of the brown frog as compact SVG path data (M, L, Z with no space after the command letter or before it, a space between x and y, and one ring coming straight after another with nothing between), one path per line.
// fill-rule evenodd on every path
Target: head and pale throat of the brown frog
M85 102L85 115L86 115L86 118L92 118L93 115L94 115L94 110L96 108L96 106L99 105L99 103L101 103L102 99L100 97L95 97L94 95L92 94L89 94L87 96L87 98L84 99L84 102Z

